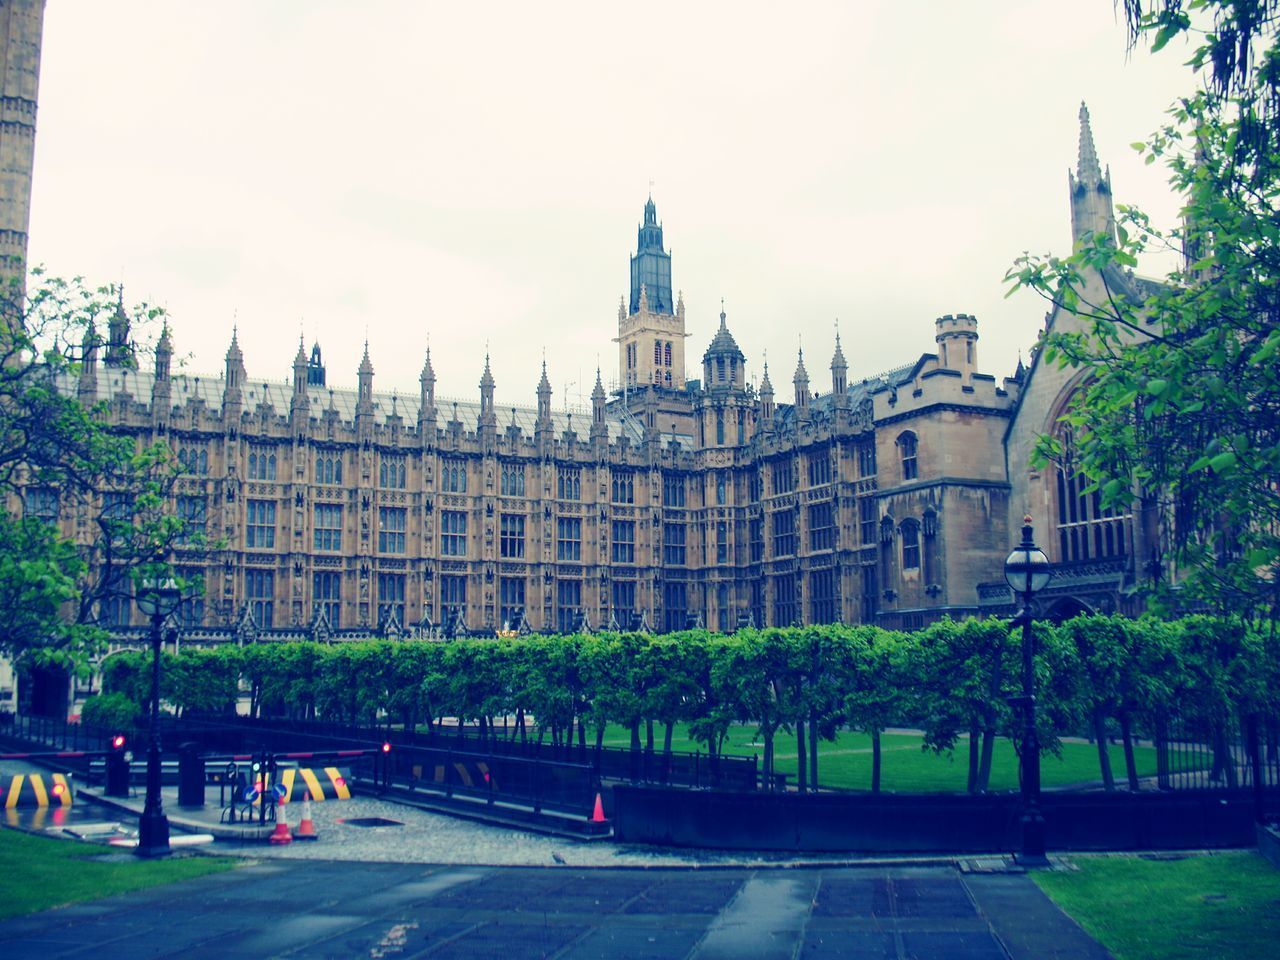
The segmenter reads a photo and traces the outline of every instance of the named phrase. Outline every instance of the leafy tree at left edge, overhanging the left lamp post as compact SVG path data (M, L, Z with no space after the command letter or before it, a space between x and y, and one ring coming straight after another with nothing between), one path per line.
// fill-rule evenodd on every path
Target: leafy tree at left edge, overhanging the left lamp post
M20 319L0 324L0 653L19 666L36 649L91 652L138 576L172 572L183 527L169 451L110 429L81 387L100 321L123 301L40 270L31 288ZM134 311L136 323L156 316Z

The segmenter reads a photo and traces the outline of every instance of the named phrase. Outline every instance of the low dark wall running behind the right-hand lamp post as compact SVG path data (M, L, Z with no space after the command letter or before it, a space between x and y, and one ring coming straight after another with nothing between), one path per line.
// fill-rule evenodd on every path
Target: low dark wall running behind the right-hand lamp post
M1272 810L1280 791L1271 791ZM1016 794L732 794L617 786L620 842L735 850L859 854L1011 851L1020 846ZM1247 790L1171 794L1046 794L1051 850L1252 846Z

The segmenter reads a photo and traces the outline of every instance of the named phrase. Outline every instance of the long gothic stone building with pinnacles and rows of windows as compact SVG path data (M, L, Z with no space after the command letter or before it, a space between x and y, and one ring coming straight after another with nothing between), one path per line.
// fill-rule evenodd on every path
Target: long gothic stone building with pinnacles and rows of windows
M1083 110L1070 191L1075 236L1111 228ZM329 387L319 346L301 343L292 383L273 383L248 375L234 333L220 376L175 375L168 329L138 370L123 308L67 389L177 453L174 509L216 545L177 556L205 585L183 618L206 635L914 627L1009 608L1001 564L1024 511L1069 562L1062 599L1114 608L1133 517L1025 466L1075 387L1064 371L1033 358L980 372L978 321L957 314L934 321L932 352L865 379L850 379L837 335L822 379L799 356L781 402L768 365L758 389L746 381L723 311L686 370L652 198L630 285L618 388L598 371L589 411L557 408L545 364L534 406L499 408L488 357L477 402L438 401L430 351L416 396L375 390L367 347L356 390ZM52 492L28 494L55 515ZM123 600L102 617L140 623Z

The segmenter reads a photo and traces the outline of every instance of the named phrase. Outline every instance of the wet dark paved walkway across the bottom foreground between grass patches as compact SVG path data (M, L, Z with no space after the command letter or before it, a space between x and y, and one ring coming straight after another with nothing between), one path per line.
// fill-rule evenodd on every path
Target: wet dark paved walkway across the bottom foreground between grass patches
M38 957L1105 960L1024 876L262 861L0 923Z

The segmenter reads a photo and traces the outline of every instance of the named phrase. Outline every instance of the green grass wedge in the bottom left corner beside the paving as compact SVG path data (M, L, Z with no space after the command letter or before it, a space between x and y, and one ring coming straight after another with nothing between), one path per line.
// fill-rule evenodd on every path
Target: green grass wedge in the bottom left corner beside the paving
M113 851L0 827L0 919L219 873L238 863L223 856L92 859Z

